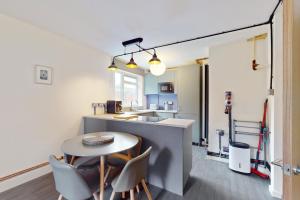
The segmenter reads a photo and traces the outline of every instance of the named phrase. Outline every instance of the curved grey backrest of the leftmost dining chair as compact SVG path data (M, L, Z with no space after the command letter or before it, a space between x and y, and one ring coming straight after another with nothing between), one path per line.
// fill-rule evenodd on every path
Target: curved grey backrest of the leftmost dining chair
M60 162L55 156L49 156L49 163L53 170L56 190L70 200L83 200L92 193L81 175L67 163Z

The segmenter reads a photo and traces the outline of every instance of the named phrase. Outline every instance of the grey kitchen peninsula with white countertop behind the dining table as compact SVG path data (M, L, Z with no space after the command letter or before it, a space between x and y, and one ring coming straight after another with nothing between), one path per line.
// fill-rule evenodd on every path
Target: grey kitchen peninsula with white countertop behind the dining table
M148 182L178 195L192 168L193 120L139 116L124 120L114 114L84 117L84 133L126 132L143 138L143 149L152 146Z

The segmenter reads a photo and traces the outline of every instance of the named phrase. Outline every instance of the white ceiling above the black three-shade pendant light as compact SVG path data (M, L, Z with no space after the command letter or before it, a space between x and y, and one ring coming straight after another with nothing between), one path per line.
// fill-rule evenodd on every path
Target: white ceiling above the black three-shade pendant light
M122 41L143 37L143 47L267 21L277 0L0 0L0 13L95 47L124 52ZM168 67L208 56L208 47L266 32L267 27L158 49ZM130 50L130 49L129 49ZM136 50L136 48L135 48ZM127 60L128 58L124 58ZM150 56L135 56L146 66Z

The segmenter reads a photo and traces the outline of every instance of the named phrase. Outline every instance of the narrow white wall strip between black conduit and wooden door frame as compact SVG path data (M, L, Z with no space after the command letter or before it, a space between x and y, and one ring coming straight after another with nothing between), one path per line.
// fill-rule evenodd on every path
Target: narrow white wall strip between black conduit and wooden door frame
M274 16L274 79L275 95L270 96L270 160L282 159L283 136L283 9L282 5ZM274 197L282 196L283 174L279 167L271 165L269 190Z

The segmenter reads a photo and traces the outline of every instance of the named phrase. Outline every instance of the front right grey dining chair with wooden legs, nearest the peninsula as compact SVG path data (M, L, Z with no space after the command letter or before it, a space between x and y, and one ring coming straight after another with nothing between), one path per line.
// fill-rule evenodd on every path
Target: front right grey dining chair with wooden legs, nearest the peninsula
M152 200L151 193L145 183L147 176L148 161L152 147L149 147L143 154L128 161L121 174L112 181L113 192L110 200L114 199L116 192L130 191L130 199L134 200L134 188L142 183L149 200Z

